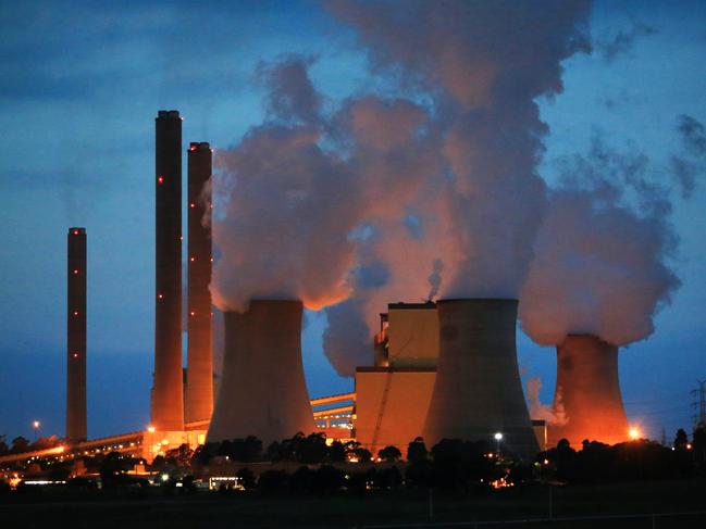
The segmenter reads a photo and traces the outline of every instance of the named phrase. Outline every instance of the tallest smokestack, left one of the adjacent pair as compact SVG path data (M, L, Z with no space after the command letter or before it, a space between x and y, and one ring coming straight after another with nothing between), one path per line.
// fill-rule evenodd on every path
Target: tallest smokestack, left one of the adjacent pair
M152 426L184 429L182 380L182 118L156 119L156 300Z

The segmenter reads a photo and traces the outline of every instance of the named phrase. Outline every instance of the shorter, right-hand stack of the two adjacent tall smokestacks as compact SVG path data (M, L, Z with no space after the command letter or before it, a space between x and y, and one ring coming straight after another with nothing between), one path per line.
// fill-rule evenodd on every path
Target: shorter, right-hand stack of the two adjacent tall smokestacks
M188 150L188 299L186 421L208 420L213 412L211 352L211 178L212 153L206 142ZM205 222L206 221L206 222Z

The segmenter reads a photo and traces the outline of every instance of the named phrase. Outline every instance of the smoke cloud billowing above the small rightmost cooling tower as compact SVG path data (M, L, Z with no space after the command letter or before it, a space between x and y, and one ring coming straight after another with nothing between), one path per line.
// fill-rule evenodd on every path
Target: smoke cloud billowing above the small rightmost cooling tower
M645 339L680 287L670 268L673 199L659 184L667 169L655 172L644 154L618 152L600 138L562 169L520 297L522 327L543 344L568 333L616 345Z

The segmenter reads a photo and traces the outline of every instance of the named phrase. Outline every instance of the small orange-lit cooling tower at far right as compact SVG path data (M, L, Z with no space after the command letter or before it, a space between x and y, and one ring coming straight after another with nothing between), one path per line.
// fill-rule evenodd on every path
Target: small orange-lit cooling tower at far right
M557 347L554 413L549 446L566 438L615 444L628 439L628 418L618 380L618 348L592 335L569 335Z

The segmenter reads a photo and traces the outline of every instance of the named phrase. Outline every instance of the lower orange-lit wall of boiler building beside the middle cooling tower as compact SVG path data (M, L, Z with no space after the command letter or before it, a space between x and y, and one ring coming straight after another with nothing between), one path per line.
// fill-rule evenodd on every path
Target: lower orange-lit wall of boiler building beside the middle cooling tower
M435 368L356 369L356 440L373 456L388 445L406 456L409 442L422 434L435 377Z

